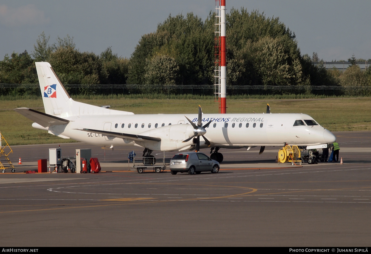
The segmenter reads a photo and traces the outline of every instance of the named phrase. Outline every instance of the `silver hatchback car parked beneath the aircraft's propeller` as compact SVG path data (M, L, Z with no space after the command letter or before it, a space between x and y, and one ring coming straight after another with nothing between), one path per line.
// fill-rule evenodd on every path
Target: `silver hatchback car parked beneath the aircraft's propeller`
M192 175L194 173L200 174L202 171L210 171L211 173L218 173L220 168L219 162L211 160L203 153L178 153L170 160L170 172L175 175L178 172Z

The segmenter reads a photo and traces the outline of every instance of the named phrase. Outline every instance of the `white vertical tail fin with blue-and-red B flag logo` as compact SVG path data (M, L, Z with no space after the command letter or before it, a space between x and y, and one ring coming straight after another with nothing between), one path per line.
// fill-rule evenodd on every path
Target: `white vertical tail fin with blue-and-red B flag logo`
M46 114L62 118L94 114L134 114L72 100L49 63L36 62L35 64Z

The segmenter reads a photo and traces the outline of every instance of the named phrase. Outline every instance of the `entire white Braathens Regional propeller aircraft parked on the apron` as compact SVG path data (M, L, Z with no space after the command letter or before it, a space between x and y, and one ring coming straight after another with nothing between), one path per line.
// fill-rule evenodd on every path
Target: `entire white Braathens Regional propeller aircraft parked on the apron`
M36 63L45 113L14 109L35 121L32 127L61 138L101 146L139 146L144 154L211 148L247 148L329 144L336 137L306 114L140 114L72 100L49 63ZM189 124L188 124L189 123Z

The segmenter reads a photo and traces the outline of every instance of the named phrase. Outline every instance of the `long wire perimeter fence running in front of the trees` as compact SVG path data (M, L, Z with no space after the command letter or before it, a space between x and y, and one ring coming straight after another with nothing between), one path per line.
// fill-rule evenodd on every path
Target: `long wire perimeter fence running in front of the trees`
M213 85L65 84L76 94L197 94L214 95ZM0 84L0 96L40 95L39 84ZM316 94L327 96L371 96L371 86L227 86L229 95Z

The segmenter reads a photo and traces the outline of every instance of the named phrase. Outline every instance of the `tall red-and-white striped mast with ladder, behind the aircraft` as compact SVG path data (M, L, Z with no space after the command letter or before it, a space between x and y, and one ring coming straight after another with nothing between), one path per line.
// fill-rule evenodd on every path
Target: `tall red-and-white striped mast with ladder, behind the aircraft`
M226 94L226 0L215 0L215 70L214 85L218 87L220 113L227 113ZM219 4L219 6L217 6ZM218 8L219 7L219 8ZM219 24L217 24L219 21ZM219 50L219 52L217 52Z

